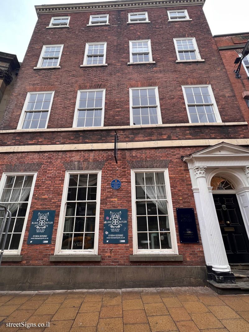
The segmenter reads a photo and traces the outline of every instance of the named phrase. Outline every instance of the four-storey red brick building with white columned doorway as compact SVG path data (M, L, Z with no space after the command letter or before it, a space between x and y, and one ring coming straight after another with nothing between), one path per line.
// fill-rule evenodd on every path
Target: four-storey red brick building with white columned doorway
M0 131L1 289L235 283L249 132L203 4L36 6Z

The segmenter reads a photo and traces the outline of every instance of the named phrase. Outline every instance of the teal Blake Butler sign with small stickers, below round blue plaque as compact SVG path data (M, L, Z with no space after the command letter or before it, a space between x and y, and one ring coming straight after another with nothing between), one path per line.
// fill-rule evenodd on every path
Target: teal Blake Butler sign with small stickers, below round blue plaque
M105 209L103 243L128 243L128 210Z

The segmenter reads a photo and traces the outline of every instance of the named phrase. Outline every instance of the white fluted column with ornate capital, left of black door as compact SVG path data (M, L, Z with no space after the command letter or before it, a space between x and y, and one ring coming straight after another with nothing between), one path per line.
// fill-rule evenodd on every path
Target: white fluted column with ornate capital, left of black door
M212 270L217 272L230 272L225 247L223 244L219 224L215 221L213 206L210 202L206 182L206 166L196 166L194 168L197 185L200 190L200 198L203 210L203 221L207 229L207 237L210 246L212 259Z

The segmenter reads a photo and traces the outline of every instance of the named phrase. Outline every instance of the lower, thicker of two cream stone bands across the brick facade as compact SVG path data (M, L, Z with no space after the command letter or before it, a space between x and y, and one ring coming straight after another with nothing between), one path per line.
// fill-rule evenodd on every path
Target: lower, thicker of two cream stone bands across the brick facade
M144 149L166 147L210 146L221 142L234 145L249 145L249 138L241 139L177 139L148 142L121 142L119 149ZM45 151L82 151L82 150L113 150L114 143L86 144L50 144L50 145L14 145L0 146L0 153L6 152L45 152Z

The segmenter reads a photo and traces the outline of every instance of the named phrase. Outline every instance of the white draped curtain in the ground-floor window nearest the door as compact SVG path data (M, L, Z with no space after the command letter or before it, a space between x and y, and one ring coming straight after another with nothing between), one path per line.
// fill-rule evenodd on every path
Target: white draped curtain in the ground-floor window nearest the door
M138 175L139 173L137 173ZM143 173L142 173L143 174ZM152 173L153 174L153 173ZM154 175L154 174L153 174ZM144 186L144 180L142 176L136 176L136 181L138 182L139 185L142 186L143 191L145 192L145 186ZM153 177L146 177L146 195L150 200L153 200L152 202L156 205L158 209L162 211L163 214L168 214L168 208L167 208L167 201L157 201L156 200L156 187L154 185L154 176ZM157 196L158 199L166 199L166 192L165 192L165 187L164 186L157 186ZM166 218L166 227L169 227L169 218ZM170 239L170 233L167 233L168 237L168 243L170 248L171 246L171 239Z

